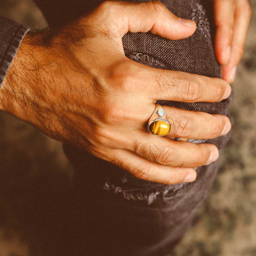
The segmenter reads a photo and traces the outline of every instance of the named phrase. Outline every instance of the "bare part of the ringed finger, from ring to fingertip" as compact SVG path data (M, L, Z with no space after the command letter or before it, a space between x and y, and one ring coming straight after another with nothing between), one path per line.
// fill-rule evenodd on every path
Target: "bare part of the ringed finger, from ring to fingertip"
M164 106L171 131L167 137L214 139L231 129L228 117Z

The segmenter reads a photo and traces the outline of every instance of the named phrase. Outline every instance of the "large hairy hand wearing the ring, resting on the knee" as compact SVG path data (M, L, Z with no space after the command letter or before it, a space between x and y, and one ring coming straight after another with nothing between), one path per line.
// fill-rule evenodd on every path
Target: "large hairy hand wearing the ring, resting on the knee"
M231 87L218 78L134 62L124 55L122 36L151 31L181 39L195 29L193 21L159 2L104 2L53 37L49 32L25 37L0 89L0 108L136 177L194 181L192 167L217 160L217 147L155 137L146 129L148 119L156 100L217 102ZM211 139L231 127L226 116L167 106L165 111L172 120L170 137Z

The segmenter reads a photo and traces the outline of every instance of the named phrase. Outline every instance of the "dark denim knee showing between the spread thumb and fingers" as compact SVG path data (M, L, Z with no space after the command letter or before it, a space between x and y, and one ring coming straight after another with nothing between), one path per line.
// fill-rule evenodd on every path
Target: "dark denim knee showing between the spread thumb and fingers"
M142 0L144 1L144 0ZM160 0L163 1L163 0ZM123 37L126 56L136 62L160 69L183 71L209 77L222 77L222 67L215 58L212 33L213 17L208 18L207 9L199 0L163 1L166 7L182 18L192 19L197 24L195 33L182 40L169 40L148 33L127 33ZM227 100L221 102L176 102L158 100L160 105L182 108L190 111L202 111L210 114L228 114L228 108L234 98L232 91ZM214 140L191 140L194 143L213 143L225 145L230 134ZM179 140L179 138L176 138Z

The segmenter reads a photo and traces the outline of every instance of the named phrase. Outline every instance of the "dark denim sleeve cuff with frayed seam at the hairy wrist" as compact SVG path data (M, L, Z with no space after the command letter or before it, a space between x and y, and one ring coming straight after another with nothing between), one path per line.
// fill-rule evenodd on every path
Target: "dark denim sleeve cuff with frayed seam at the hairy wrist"
M30 29L0 15L0 86L20 43Z

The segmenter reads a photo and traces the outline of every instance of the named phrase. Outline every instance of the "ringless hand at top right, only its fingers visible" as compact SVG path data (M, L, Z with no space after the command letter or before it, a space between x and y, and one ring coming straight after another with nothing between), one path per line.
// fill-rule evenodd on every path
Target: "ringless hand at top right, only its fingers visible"
M223 79L232 83L236 67L244 53L244 45L251 18L248 0L214 0L214 16L217 26L215 52L223 65Z

